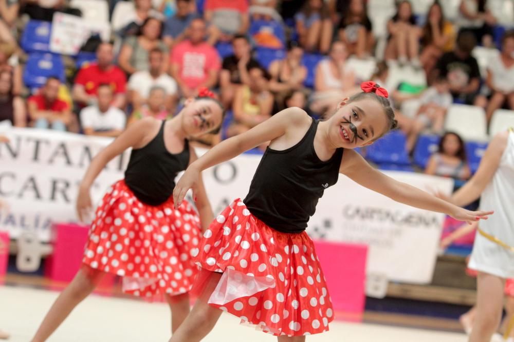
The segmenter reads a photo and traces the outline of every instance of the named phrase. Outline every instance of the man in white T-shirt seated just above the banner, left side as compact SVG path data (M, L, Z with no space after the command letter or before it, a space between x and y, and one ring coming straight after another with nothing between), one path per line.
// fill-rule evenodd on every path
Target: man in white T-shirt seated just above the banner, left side
M98 104L80 112L84 134L112 137L121 134L125 128L126 115L121 109L111 105L113 99L111 86L102 84L98 87Z

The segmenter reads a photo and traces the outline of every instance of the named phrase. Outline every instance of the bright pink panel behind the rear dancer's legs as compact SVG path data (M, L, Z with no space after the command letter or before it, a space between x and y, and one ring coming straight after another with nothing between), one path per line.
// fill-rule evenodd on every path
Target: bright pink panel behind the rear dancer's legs
M68 283L82 265L89 227L58 223L54 224L52 229L53 253L47 259L45 274L53 281ZM115 279L115 275L105 275L99 288L112 288Z

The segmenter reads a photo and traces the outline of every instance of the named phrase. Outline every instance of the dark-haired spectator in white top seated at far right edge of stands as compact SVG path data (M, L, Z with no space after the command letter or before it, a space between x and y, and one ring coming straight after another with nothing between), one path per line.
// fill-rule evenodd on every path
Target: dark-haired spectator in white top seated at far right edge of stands
M492 114L505 103L514 109L514 31L504 34L502 38L502 52L493 56L487 66L486 85L491 90L491 97L487 103L487 121L490 122ZM483 98L482 100L487 101Z

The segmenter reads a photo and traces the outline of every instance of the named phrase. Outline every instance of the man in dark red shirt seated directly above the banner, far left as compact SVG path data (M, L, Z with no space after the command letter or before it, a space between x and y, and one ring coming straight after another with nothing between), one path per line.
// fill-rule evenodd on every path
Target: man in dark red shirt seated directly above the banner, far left
M38 94L29 97L29 116L35 128L66 131L66 126L71 124L69 105L57 98L60 86L59 78L48 77Z

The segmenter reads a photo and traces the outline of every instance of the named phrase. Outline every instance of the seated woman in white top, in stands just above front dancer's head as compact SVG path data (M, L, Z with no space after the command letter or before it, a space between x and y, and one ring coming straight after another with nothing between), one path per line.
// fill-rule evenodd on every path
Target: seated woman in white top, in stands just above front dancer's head
M350 97L360 91L356 86L355 74L348 69L348 51L342 42L334 42L328 54L316 66L314 89L310 109L323 114L334 109L341 98Z

